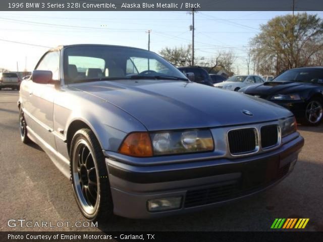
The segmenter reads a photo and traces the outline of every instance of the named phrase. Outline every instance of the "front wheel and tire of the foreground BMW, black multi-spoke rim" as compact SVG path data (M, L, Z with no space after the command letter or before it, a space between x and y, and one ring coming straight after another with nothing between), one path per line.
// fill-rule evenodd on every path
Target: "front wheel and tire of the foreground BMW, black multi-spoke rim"
M109 220L114 216L110 183L102 149L91 130L75 133L70 157L73 192L83 216L91 221Z

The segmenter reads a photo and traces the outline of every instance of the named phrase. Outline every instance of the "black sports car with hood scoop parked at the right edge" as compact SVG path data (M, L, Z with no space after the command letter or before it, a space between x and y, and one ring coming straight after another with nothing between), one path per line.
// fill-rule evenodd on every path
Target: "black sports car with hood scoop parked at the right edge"
M239 92L284 106L301 123L316 126L323 119L323 67L291 69L271 82L247 86Z

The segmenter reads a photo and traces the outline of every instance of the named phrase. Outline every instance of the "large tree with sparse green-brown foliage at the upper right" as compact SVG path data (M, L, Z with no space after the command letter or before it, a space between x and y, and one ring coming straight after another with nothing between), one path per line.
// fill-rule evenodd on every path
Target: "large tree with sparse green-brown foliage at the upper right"
M278 74L286 69L320 64L323 21L317 15L275 17L261 25L260 30L251 40L251 53L261 74Z

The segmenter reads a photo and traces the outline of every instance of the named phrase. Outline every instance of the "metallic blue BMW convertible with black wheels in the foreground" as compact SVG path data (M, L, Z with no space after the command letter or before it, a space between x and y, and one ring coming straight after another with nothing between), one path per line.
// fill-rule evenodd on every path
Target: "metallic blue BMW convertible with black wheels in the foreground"
M255 194L292 171L304 143L289 110L190 82L131 47L49 50L22 81L18 107L22 142L36 142L71 179L90 220L182 214Z

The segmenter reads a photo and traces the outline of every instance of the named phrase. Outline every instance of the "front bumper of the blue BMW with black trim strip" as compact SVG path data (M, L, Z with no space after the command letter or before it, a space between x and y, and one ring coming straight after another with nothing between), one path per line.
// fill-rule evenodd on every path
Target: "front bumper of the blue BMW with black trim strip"
M114 213L154 218L218 206L277 184L292 170L304 139L297 135L276 150L236 159L138 166L112 158L109 171ZM149 212L151 199L182 197L180 209Z

